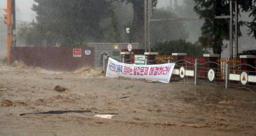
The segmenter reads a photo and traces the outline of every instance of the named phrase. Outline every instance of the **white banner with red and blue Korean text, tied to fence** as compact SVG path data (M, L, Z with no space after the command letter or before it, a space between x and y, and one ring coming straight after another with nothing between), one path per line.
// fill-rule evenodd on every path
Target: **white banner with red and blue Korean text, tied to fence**
M174 63L162 65L132 65L119 63L118 61L109 58L106 76L121 76L131 79L146 79L148 81L169 83L174 66Z

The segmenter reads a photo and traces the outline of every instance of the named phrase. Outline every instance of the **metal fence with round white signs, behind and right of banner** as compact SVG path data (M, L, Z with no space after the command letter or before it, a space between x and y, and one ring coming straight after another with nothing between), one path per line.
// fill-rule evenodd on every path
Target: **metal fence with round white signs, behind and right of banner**
M106 68L108 65L108 56L104 57L104 72L106 72ZM131 59L128 60L122 57L121 63L130 63ZM159 63L176 63L175 68L173 69L172 78L184 79L187 83L193 83L195 85L203 82L218 82L225 84L225 88L230 85L238 85L237 88L246 88L249 90L249 87L256 87L256 59L255 59L255 67L254 65L248 64L239 64L241 63L241 59L226 59L219 58L216 62L206 62L203 57L185 57L186 60L178 60L176 62L171 62L170 57L165 61L162 58L157 57L154 60L148 60L146 57L145 65L150 65L150 62L162 61ZM195 60L194 60L195 59ZM226 60L224 62L224 60ZM238 64L238 65L235 65ZM249 71L241 71L241 67L246 66L251 70Z

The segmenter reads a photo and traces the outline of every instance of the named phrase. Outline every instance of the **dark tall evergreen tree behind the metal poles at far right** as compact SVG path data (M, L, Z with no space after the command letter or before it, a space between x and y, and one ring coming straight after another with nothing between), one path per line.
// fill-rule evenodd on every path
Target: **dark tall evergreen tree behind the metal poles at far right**
M196 5L194 7L195 12L200 15L200 17L207 18L203 23L201 28L202 36L199 41L204 47L210 47L216 54L221 54L224 40L229 39L229 22L227 19L215 20L214 16L219 15L230 15L230 3L228 0L194 0ZM254 1L254 3L252 2ZM241 11L248 12L255 8L255 0L238 0L238 7ZM238 9L238 13L240 12ZM252 13L255 15L254 13ZM246 23L252 30L255 30L254 23ZM243 25L243 23L239 23ZM239 27L238 27L239 28ZM238 36L241 36L240 30L238 31Z

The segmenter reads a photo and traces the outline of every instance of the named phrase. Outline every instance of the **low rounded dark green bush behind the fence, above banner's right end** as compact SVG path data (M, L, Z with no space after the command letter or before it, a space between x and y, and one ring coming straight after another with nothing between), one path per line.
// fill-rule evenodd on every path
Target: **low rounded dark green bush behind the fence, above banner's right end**
M207 53L203 47L198 44L192 44L185 40L164 41L155 44L151 48L152 52L159 52L159 55L172 55L172 53L187 53L189 56L202 56Z

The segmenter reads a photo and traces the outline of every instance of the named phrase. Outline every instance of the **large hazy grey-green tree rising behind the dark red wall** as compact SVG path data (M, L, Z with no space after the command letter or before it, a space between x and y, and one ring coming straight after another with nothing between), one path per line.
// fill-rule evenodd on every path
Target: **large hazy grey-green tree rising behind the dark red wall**
M32 9L37 12L37 21L33 29L41 33L41 38L47 39L48 44L55 45L58 42L67 47L104 39L99 23L109 17L110 1L34 1L37 4L34 4ZM42 40L41 38L39 40Z

